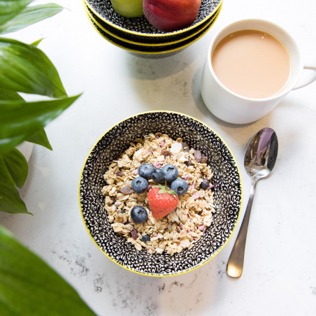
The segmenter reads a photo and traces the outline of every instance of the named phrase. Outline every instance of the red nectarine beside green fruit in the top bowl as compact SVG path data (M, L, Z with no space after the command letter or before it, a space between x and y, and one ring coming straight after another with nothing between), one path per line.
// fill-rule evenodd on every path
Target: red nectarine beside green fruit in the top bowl
M196 19L201 0L143 0L145 17L160 31L189 27Z

